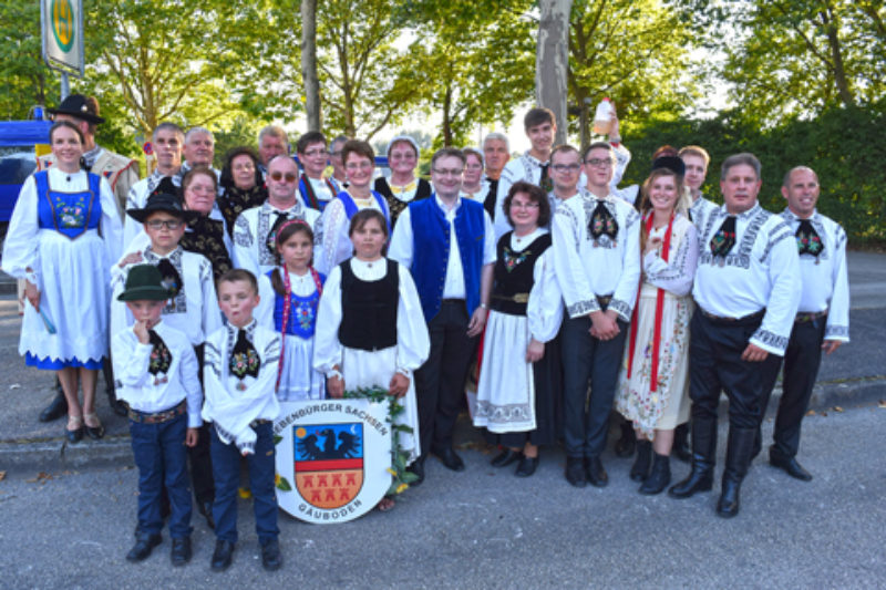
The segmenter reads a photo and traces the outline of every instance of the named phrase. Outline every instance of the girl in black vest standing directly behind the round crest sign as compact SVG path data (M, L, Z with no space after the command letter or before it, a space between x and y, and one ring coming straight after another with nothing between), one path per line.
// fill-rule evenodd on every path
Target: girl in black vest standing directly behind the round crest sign
M381 253L388 224L380 211L354 214L348 235L354 255L333 268L323 286L313 368L326 374L329 397L373 386L401 397L405 411L396 423L412 433L400 433L400 447L412 463L421 454L412 373L431 349L419 292L409 269ZM388 510L393 500L379 507Z

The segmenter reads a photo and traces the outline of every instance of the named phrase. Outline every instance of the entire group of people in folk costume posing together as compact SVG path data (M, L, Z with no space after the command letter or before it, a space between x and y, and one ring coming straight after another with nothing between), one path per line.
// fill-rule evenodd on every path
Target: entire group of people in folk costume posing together
M770 463L812 478L796 460L801 421L821 350L848 340L849 306L846 235L817 213L807 167L785 174L781 214L758 203L751 154L722 163L723 205L701 193L710 158L699 146L660 148L641 186L620 187L630 153L617 120L579 152L554 147L552 113L533 108L525 154L509 159L493 133L482 149L439 149L430 183L409 136L388 145L388 178L368 143L327 145L317 132L297 143L299 169L275 126L258 153L238 147L216 170L212 134L172 123L154 130L157 167L135 182L131 161L95 145L93 99L54 112L52 155L22 187L3 270L24 279L20 352L58 372L61 395L41 420L66 413L69 442L101 438L100 369L130 418L141 493L131 560L159 542L168 506L173 562L187 562L193 487L216 528L213 567L229 566L245 455L264 563L280 566L272 444L270 462L259 453L278 401L385 387L412 427L401 439L412 485L429 455L463 470L453 431L473 363L472 420L499 447L492 464L532 476L539 447L562 439L577 487L608 482L615 408L640 493L669 486L672 451L691 472L669 495L711 489L725 392L717 513L730 517L783 361Z

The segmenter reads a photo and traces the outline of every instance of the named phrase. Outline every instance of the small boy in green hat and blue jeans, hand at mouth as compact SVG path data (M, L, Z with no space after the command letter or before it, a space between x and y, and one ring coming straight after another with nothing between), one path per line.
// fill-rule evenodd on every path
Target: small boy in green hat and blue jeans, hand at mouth
M162 541L161 493L169 495L172 562L190 560L190 485L187 447L197 444L203 394L197 356L187 337L161 321L169 299L152 265L130 269L124 301L135 323L114 334L112 356L117 396L130 406L130 436L138 467L138 527L130 561L146 559Z

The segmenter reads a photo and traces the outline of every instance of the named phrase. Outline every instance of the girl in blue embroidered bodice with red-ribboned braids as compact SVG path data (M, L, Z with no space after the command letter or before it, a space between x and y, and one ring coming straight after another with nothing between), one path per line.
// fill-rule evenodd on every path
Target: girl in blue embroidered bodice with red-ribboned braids
M281 402L322 400L326 375L313 370L313 333L326 276L311 268L313 231L290 219L276 236L279 266L258 279L260 301L255 317L284 334L278 365L277 398Z

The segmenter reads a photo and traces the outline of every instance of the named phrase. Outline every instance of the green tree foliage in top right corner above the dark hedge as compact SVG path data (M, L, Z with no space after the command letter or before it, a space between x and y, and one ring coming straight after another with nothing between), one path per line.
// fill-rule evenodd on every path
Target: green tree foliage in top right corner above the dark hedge
M886 8L872 0L688 2L699 35L722 51L714 72L741 116L776 125L886 96Z

